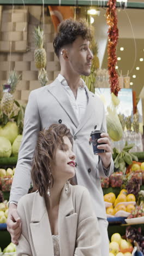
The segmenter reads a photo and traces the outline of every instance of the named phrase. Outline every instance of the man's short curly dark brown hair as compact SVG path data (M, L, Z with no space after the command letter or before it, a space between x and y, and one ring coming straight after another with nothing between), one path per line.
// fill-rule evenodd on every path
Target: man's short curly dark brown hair
M83 19L77 21L72 18L63 20L59 24L57 34L53 39L53 48L56 55L59 57L59 50L64 45L73 43L77 36L89 41L92 40L92 30L87 22Z

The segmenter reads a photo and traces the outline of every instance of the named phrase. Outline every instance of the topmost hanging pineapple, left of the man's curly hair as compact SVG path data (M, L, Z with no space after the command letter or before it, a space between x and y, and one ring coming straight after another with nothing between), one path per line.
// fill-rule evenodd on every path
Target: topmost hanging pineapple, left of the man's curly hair
M34 51L34 61L35 67L38 69L45 68L46 66L46 51L43 48L44 46L44 31L41 28L34 28L34 40L36 49Z

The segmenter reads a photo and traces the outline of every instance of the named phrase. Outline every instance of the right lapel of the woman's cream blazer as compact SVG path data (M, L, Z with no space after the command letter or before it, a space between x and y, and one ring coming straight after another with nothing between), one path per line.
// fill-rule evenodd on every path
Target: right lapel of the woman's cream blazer
M74 255L77 213L74 211L72 186L69 186L68 194L65 193L65 186L59 202L58 214L59 248L61 256Z

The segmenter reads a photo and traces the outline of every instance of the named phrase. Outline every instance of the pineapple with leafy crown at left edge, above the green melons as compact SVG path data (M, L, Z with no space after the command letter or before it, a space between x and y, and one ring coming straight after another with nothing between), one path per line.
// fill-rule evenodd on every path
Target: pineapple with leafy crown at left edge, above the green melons
M8 88L7 92L4 92L1 100L1 110L5 115L8 115L13 109L14 96L13 93L16 89L16 84L21 79L21 75L17 75L15 71L9 73L7 85L4 85L4 90Z

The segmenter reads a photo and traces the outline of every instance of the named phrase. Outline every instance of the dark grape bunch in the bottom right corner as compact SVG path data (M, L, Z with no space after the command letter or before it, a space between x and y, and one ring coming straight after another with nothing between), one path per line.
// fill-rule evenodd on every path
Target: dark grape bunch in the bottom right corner
M125 235L127 239L131 243L133 243L133 246L134 246L134 241L136 241L139 244L140 250L144 255L144 236L141 232L141 228L139 227L138 229L136 229L136 228L131 228L131 226L128 226L126 229Z

